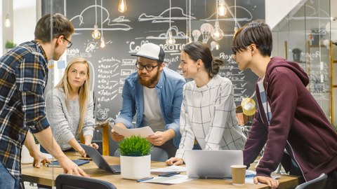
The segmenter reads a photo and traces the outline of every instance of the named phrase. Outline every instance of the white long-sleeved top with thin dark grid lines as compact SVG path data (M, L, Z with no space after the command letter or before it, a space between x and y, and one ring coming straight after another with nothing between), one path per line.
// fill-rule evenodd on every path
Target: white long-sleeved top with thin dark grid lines
M192 150L197 139L203 150L242 150L246 137L238 125L232 82L214 76L203 87L194 81L183 89L180 111L181 141L177 158L185 158L185 151Z

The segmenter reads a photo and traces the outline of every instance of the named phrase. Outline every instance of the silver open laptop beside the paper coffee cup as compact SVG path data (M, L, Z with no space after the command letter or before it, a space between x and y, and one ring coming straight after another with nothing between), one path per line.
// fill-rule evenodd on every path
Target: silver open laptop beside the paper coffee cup
M231 165L243 165L242 151L185 151L187 176L200 179L232 178Z

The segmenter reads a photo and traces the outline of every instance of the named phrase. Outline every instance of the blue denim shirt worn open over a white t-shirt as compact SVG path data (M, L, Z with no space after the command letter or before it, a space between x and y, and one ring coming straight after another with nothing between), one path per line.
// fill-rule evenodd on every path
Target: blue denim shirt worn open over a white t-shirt
M178 148L180 143L180 108L183 101L183 85L185 79L179 73L171 69L164 68L161 71L159 81L156 85L159 97L159 105L164 121L166 123L164 130L173 129L176 137L173 138L173 144ZM143 85L138 82L137 72L131 73L125 80L123 92L121 113L115 120L116 123L123 123L128 128L132 128L133 116L137 113L136 127L145 127L143 123L144 114L144 96Z

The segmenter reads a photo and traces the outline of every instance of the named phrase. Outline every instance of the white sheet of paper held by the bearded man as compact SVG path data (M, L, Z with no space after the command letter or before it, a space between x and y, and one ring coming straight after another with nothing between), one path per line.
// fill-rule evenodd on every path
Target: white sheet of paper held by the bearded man
M121 127L117 127L116 125L112 125L112 129L117 132L118 134L123 135L126 138L131 137L132 135L135 136L140 136L140 137L148 137L151 134L154 134L152 131L151 127L146 126L146 127L139 127L136 129L125 129Z

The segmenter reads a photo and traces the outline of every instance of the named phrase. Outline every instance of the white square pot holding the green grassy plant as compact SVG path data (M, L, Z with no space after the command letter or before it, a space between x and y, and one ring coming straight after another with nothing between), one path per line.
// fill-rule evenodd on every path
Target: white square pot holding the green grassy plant
M121 155L121 178L144 179L150 176L151 155L124 156Z

